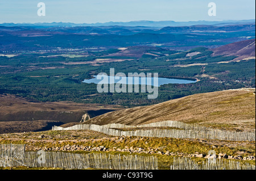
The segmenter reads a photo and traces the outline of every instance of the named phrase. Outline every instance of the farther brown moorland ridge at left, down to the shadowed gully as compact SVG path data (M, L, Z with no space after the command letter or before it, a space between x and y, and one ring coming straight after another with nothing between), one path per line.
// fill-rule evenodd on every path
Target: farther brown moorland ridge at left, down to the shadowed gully
M0 95L0 121L54 120L70 123L79 122L85 113L95 117L119 109L102 104L32 102L15 95Z

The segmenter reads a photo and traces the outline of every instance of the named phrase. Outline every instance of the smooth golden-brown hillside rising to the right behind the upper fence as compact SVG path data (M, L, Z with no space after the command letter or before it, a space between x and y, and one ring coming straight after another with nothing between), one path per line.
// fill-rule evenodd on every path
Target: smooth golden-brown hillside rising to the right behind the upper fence
M109 112L90 119L86 124L139 125L175 120L200 124L250 122L255 125L254 91L237 89L195 94L152 106Z

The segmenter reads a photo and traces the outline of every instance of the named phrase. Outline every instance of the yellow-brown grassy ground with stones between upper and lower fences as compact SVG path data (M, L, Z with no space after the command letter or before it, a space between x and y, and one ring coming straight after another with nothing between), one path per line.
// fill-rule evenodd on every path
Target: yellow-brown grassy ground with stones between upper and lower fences
M40 135L43 138L39 138ZM122 140L120 139L122 138ZM208 154L209 150L213 149L217 154L226 153L228 155L254 155L255 156L255 142L236 142L236 141L217 141L217 140L198 140L198 139L176 139L176 138L150 138L150 137L112 137L94 131L45 131L45 132L28 132L28 133L9 133L0 134L0 144L26 144L26 150L32 151L35 148L45 149L53 147L61 147L65 145L80 145L80 146L105 146L106 148L125 149L129 148L143 148L144 150L170 151L173 153L193 154L199 152L200 154ZM106 153L106 154L129 154L129 152L122 151L72 151L73 153ZM138 155L158 157L159 169L170 169L174 157L170 155L133 153ZM205 158L192 158L196 162L205 161ZM255 161L242 161L242 163L249 162L255 165ZM0 168L0 170L3 168ZM8 168L6 168L8 169ZM27 168L16 168L27 169ZM40 168L43 169L43 168Z

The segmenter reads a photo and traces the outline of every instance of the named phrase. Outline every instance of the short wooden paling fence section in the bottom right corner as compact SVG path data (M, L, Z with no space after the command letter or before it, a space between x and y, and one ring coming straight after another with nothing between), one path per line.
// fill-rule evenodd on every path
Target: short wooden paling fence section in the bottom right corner
M171 170L255 170L255 165L249 163L241 164L238 161L226 161L223 159L207 159L202 164L191 158L178 157L170 166Z

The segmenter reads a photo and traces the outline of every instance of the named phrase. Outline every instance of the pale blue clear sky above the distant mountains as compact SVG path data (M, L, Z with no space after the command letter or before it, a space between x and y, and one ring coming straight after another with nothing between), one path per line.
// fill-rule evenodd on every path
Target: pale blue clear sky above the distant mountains
M39 2L46 16L38 16ZM216 3L216 16L208 15L210 2ZM247 19L255 19L255 0L0 0L0 23Z

